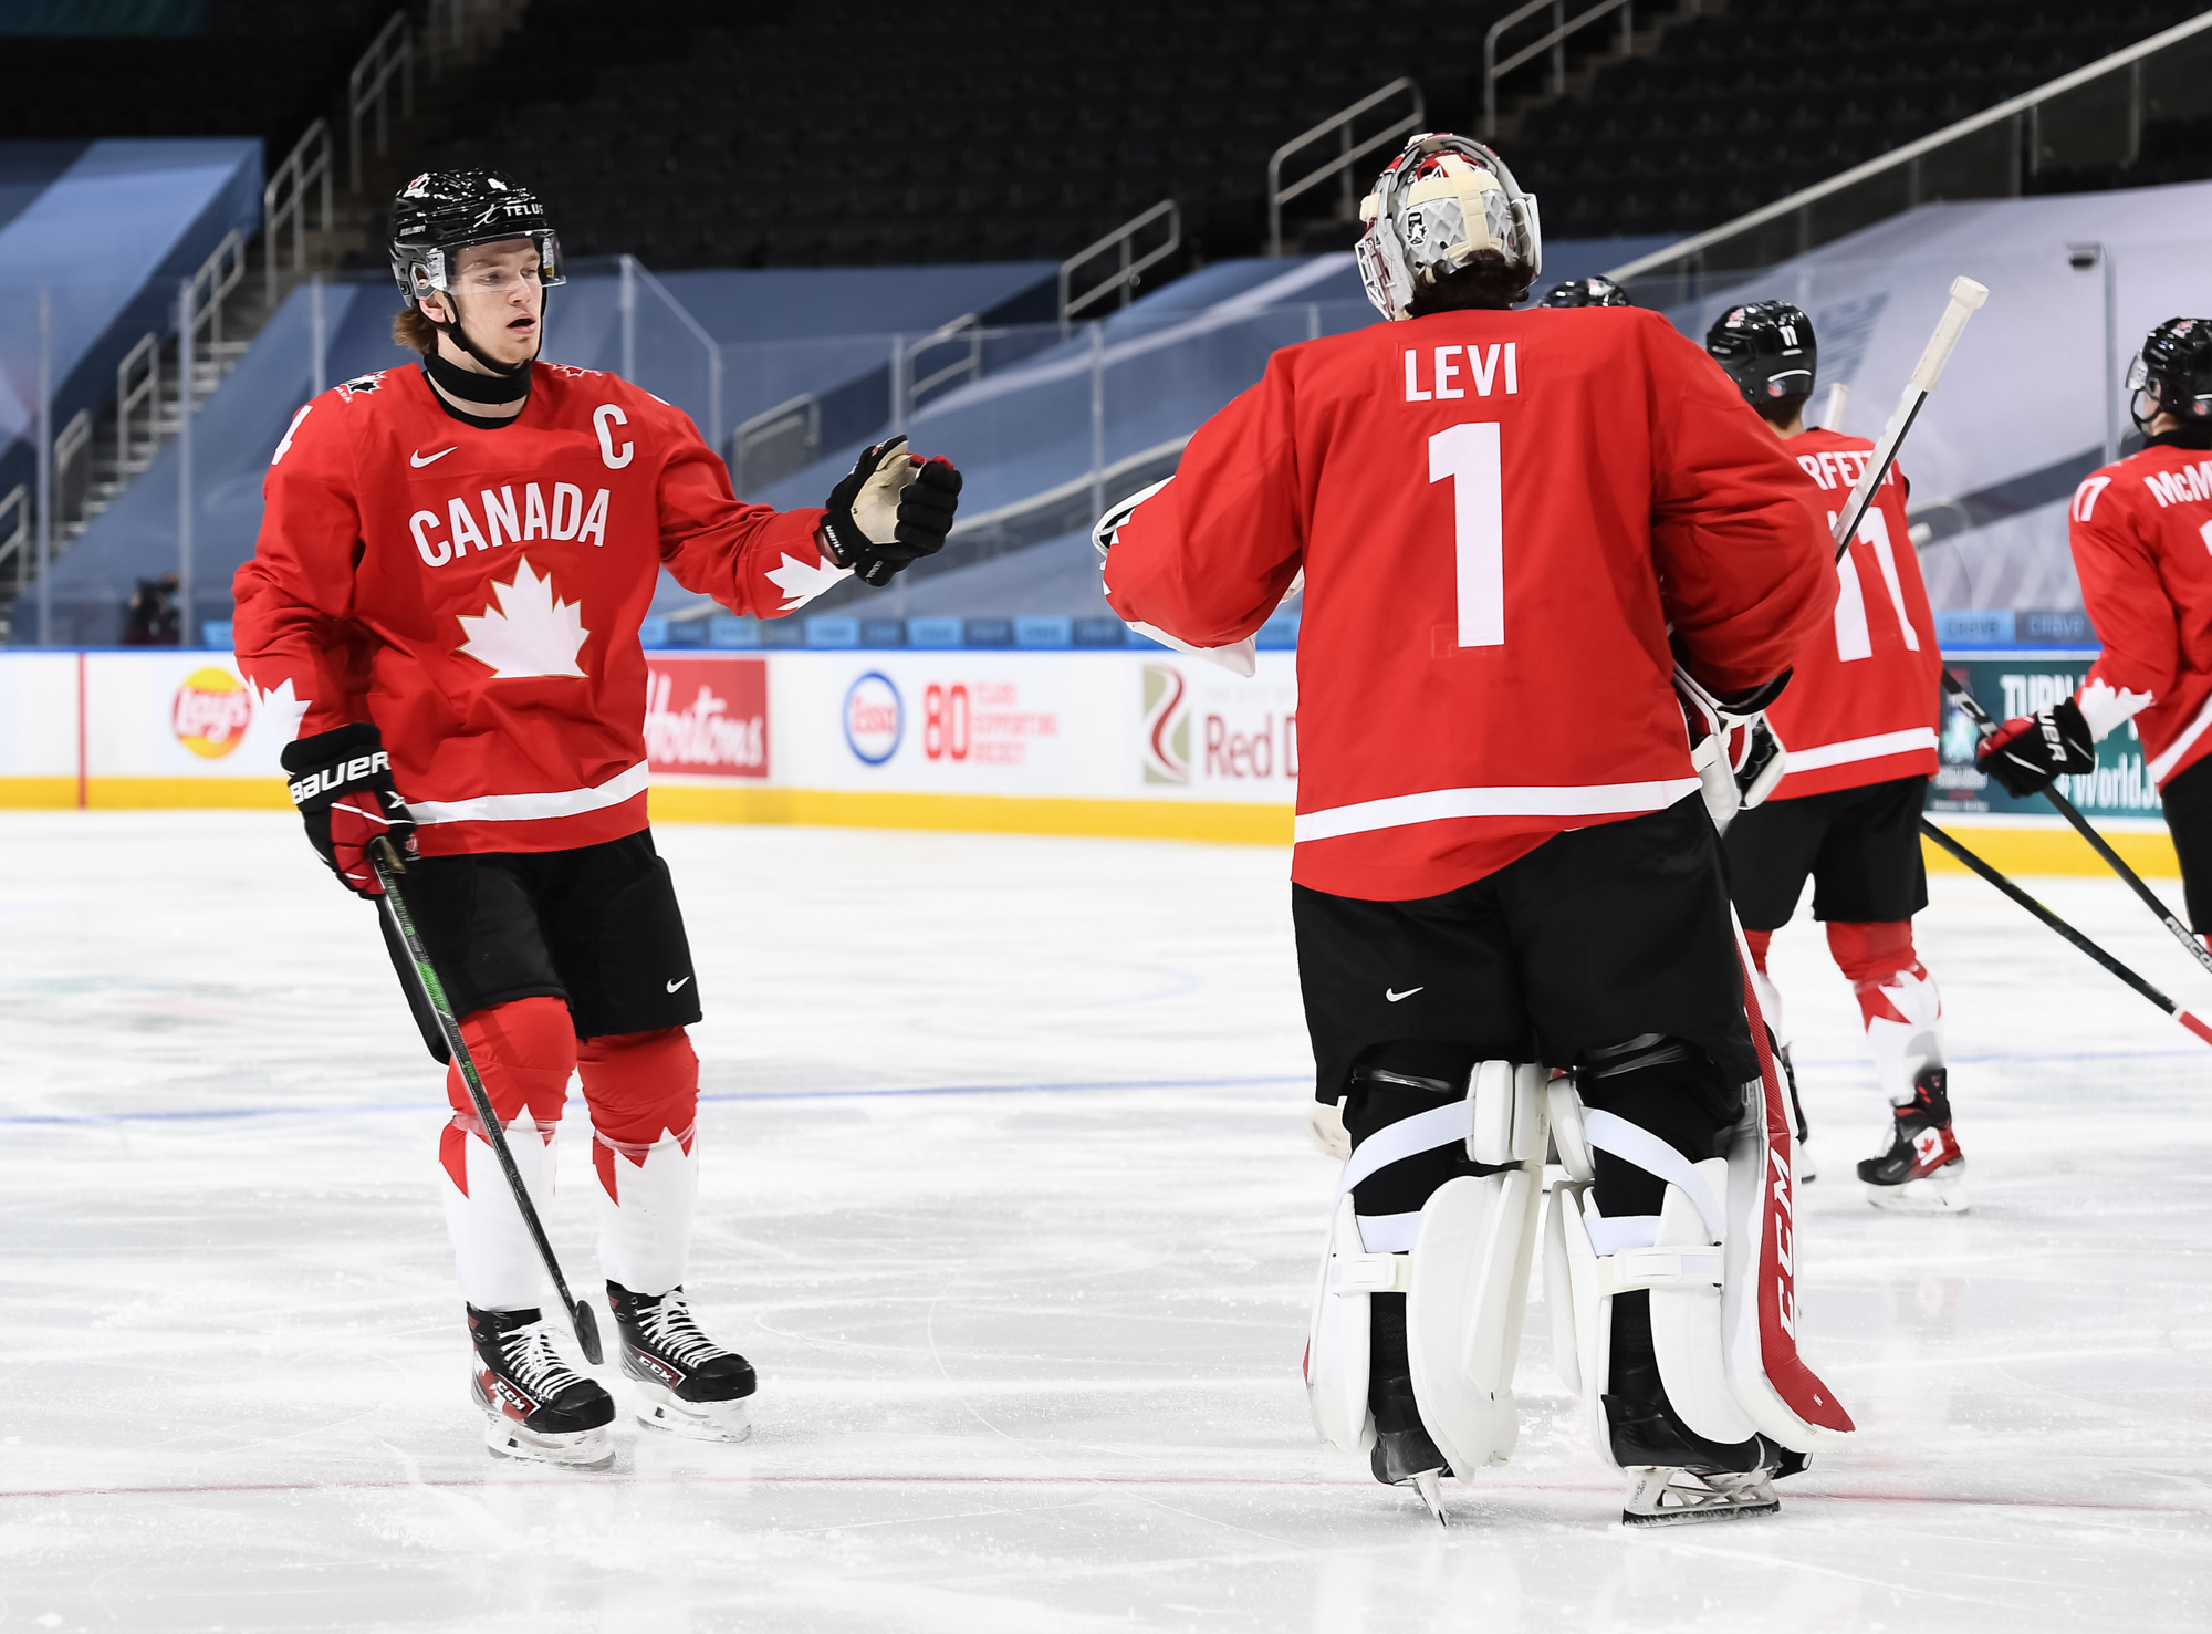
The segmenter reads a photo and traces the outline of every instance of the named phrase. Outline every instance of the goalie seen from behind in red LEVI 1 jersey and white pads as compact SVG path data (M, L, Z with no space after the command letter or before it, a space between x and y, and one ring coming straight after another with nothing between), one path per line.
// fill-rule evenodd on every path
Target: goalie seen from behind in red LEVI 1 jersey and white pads
M1391 321L1276 352L1097 529L1126 620L1245 673L1303 573L1292 919L1347 1158L1314 1424L1431 1508L1511 1452L1548 1136L1624 1519L1772 1510L1849 1417L1767 1253L1787 1114L1670 675L1725 722L1774 695L1836 593L1812 489L1659 314L1509 310L1537 213L1482 144L1413 137L1365 219Z

